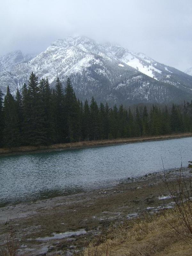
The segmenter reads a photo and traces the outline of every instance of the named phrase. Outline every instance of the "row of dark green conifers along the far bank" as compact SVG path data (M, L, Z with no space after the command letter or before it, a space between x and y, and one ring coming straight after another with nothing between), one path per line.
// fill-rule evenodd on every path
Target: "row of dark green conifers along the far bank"
M3 98L4 96L4 98ZM126 109L123 105L76 99L70 79L66 87L57 78L55 89L49 81L32 72L28 86L17 89L15 97L9 86L6 95L0 89L0 147L48 145L83 140L105 140L176 132L191 132L192 103L148 109Z

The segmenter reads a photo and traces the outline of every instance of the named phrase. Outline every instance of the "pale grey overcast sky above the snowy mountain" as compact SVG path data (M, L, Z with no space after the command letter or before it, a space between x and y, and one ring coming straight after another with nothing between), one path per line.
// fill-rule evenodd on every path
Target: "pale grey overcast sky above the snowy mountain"
M0 54L79 34L192 67L192 0L0 0L0 9Z

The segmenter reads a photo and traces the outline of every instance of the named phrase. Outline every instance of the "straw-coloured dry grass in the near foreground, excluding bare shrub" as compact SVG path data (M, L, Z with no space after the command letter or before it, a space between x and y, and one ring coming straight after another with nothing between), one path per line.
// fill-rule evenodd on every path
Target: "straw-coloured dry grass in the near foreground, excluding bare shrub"
M175 233L168 225L174 221L179 226L177 209L164 210L153 216L143 216L136 220L125 221L123 224L108 230L103 242L97 245L89 244L84 256L191 256L191 239Z

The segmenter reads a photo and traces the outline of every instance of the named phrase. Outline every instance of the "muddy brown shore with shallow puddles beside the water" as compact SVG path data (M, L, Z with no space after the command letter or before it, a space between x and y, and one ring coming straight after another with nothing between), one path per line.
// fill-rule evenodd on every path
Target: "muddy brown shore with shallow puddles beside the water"
M187 179L191 175L188 168L184 173ZM175 177L175 170L167 175ZM12 226L19 238L23 236L20 255L70 255L97 235L106 220L118 223L161 205L172 206L171 199L161 199L168 195L162 179L162 172L152 173L107 189L0 208L0 241Z

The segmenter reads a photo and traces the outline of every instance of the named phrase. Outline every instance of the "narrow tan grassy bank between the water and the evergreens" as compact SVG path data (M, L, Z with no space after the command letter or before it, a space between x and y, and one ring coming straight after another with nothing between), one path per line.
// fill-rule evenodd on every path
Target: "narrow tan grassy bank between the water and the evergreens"
M69 148L86 148L86 147L97 147L107 146L123 143L134 143L142 141L153 141L153 140L169 140L174 138L185 138L192 137L192 133L179 133L169 134L160 136L150 137L137 137L137 138L121 138L113 140L92 140L92 141L80 141L73 143L54 144L48 146L23 146L18 148L0 148L0 155L6 155L10 153L25 153L25 152L40 152L40 151L52 151L58 149L69 149Z

